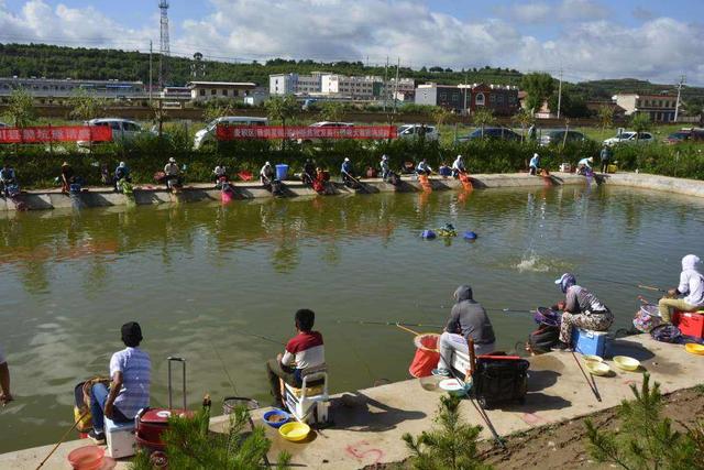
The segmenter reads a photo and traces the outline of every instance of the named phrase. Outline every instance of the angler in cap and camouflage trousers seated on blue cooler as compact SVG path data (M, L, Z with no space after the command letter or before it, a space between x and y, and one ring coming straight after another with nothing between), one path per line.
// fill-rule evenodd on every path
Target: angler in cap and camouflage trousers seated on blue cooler
M554 282L564 293L560 340L553 351L571 351L572 329L574 327L594 331L607 331L614 323L614 314L594 294L576 284L574 274L564 273Z

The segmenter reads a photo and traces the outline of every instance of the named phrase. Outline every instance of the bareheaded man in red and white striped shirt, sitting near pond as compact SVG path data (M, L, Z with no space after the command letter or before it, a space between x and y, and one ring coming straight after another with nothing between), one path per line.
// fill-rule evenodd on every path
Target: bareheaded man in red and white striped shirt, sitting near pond
M284 354L266 362L266 374L275 398L275 406L283 407L279 379L299 389L302 384L301 372L308 368L322 365L326 362L322 335L312 331L316 314L307 308L296 311L296 329L298 335L286 343Z

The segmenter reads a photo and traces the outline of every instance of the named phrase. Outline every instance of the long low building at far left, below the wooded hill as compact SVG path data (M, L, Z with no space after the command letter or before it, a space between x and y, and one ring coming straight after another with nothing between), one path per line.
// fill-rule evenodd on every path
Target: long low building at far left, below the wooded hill
M121 80L74 80L70 78L0 78L0 97L23 89L35 98L70 98L86 92L99 98L136 99L146 98L147 91L142 81Z

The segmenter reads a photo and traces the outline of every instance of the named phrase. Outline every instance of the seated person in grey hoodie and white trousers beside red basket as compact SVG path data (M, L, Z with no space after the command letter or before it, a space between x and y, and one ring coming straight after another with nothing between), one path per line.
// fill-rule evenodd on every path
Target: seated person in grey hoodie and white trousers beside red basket
M440 361L433 375L449 376L452 364L449 362L454 351L469 353L468 340L474 341L474 352L487 354L494 351L496 337L494 328L482 305L474 300L472 287L461 285L454 291L457 304L452 306L450 319L440 336Z

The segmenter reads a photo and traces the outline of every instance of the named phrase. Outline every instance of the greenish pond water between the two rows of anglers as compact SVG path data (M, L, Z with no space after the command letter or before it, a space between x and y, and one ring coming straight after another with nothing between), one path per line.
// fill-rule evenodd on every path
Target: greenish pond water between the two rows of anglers
M453 223L475 242L424 241ZM188 360L188 402L205 393L268 403L264 362L308 307L326 340L332 392L408 378L413 336L340 320L442 324L470 283L487 308L560 298L576 273L626 327L636 296L602 280L671 286L704 254L704 204L617 187L492 189L190 204L10 215L0 219L0 343L15 402L0 408L0 451L50 444L72 424L73 389L107 373L120 326L138 320L166 404L166 357ZM493 311L503 349L535 324ZM222 362L219 360L222 358ZM230 384L224 370L234 382ZM178 395L177 395L178 396Z

